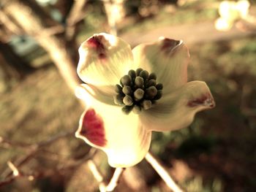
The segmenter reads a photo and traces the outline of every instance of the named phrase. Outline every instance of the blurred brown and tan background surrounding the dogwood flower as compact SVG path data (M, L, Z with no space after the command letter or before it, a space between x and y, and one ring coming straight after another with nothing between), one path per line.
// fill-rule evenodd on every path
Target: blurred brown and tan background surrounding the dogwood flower
M98 191L89 158L110 179L105 154L74 137L78 47L103 31L132 47L184 40L189 81L206 81L217 107L154 133L151 151L187 191L255 191L255 17L256 1L1 0L0 191ZM168 188L142 161L116 191Z

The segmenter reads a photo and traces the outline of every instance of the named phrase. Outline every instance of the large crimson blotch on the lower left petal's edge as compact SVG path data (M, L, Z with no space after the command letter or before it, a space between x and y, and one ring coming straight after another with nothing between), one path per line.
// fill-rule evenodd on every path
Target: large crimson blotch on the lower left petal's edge
M81 126L82 128L79 132L81 136L86 137L91 143L99 147L106 145L104 122L94 109L86 111L85 115L83 115Z

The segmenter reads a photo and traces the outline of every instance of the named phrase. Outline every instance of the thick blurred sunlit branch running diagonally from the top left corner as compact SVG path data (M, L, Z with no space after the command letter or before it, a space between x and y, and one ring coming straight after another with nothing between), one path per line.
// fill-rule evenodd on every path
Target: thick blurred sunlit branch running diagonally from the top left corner
M50 18L42 7L31 0L4 0L4 12L10 15L31 37L37 40L56 64L69 88L80 83L76 74L78 51L74 41L64 36L64 27Z

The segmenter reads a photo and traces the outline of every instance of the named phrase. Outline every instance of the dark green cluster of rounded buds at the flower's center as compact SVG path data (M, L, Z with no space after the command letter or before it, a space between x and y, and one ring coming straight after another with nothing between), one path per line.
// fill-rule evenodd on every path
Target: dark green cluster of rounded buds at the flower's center
M122 111L140 113L148 110L162 97L162 83L157 83L157 75L149 74L141 68L129 70L116 85L115 104L121 105Z

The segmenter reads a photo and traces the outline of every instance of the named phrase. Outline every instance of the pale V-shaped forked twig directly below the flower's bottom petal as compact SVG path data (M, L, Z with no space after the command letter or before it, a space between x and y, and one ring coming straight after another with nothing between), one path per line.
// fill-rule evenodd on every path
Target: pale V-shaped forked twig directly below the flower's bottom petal
M91 170L91 173L94 175L94 178L99 183L99 191L101 192L113 191L118 185L118 180L121 177L121 174L124 172L124 168L116 168L110 182L108 183L108 185L106 185L102 174L99 172L99 169L97 169L97 166L94 164L93 160L88 161L88 166Z

